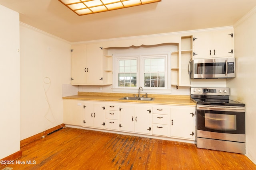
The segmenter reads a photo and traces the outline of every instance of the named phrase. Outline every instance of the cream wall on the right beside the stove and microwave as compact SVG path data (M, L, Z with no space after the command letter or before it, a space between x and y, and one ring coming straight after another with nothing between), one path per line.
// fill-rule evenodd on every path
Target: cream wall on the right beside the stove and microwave
M236 78L228 80L230 99L246 104L246 155L256 162L256 8L234 25Z

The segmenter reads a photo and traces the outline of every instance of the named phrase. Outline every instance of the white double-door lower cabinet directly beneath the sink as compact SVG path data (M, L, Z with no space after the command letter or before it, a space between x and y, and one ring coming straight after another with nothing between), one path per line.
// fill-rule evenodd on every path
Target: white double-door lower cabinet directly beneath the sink
M151 110L144 104L120 105L120 130L151 134Z

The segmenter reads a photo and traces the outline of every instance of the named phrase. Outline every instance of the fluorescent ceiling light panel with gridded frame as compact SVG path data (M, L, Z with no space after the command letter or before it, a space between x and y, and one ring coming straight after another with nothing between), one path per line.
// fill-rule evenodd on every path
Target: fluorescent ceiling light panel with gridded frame
M59 0L78 16L161 2L161 0Z

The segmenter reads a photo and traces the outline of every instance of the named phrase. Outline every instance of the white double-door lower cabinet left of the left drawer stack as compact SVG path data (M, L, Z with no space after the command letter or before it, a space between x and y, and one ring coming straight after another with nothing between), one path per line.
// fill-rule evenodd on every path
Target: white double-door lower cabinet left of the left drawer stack
M105 128L104 102L84 102L84 127Z

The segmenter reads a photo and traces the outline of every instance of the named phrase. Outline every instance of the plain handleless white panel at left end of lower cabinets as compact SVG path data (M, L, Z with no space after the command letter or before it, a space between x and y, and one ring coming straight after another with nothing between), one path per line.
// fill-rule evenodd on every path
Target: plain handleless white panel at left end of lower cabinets
M84 105L80 100L63 100L63 123L82 126Z

